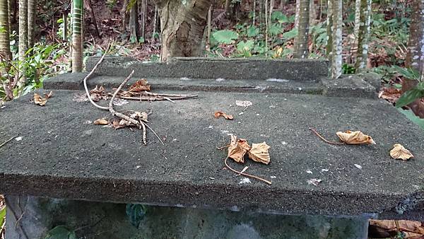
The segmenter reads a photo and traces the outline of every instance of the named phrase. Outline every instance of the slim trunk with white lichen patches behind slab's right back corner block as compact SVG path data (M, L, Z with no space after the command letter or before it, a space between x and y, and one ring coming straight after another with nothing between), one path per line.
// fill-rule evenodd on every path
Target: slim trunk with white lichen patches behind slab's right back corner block
M363 71L367 67L368 42L370 40L371 4L372 0L360 0L361 14L357 37L358 51L355 62L355 69L357 72Z

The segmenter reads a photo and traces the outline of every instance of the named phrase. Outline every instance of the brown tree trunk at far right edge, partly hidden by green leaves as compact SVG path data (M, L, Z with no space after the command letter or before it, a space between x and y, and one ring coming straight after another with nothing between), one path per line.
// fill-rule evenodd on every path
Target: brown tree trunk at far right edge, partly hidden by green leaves
M424 1L413 1L411 27L408 43L408 53L406 54L405 66L416 69L420 72L420 81L423 81L424 66ZM406 92L414 88L418 83L418 79L404 78L402 82L402 92ZM424 105L420 99L408 105L411 110L424 118Z

